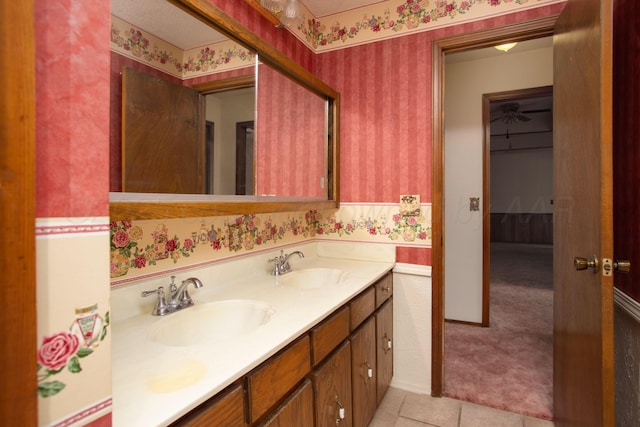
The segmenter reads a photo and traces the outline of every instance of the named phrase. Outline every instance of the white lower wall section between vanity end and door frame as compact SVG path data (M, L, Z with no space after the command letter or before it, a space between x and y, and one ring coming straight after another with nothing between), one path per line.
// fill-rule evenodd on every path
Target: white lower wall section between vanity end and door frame
M391 385L431 394L431 267L393 269L393 341Z

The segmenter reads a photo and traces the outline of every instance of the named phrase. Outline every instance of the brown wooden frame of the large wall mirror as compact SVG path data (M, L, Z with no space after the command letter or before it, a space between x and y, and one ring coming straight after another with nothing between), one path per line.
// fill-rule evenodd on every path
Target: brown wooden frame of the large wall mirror
M328 102L328 150L327 200L317 198L277 198L254 196L247 200L109 201L109 216L112 220L146 220L164 218L208 217L238 215L245 213L294 212L306 210L334 209L340 205L339 191L339 112L340 94L307 69L288 58L284 53L262 40L238 21L227 15L208 0L167 0L197 19L213 27L230 39L255 51L261 62L273 67L301 86L324 98ZM119 194L119 193L111 193ZM126 194L126 193L123 193ZM149 195L146 195L149 196ZM135 197L135 195L132 195ZM215 197L215 196L212 196ZM240 196L242 197L242 196ZM246 197L246 196L245 196ZM123 196L128 199L128 196ZM229 199L228 197L226 199Z

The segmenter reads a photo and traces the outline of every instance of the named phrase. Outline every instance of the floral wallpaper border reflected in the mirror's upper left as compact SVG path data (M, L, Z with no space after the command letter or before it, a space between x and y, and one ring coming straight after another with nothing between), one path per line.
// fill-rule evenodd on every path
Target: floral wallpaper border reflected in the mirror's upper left
M255 53L227 40L183 51L111 16L111 50L181 79L255 66Z

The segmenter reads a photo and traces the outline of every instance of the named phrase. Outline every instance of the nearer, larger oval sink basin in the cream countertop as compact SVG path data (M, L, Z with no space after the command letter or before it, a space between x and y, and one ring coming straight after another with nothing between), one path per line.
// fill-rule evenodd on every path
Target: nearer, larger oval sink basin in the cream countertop
M153 325L149 338L174 347L221 342L250 333L272 314L271 305L262 301L214 301L168 314Z

